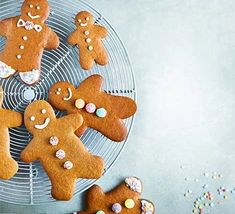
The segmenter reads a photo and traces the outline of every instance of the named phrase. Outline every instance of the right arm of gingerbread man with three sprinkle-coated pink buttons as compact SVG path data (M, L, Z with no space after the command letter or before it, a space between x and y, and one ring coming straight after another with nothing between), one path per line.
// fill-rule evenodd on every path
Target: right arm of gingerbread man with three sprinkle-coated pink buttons
M73 132L83 124L83 117L81 114L69 114L65 117L58 119L64 126L72 126Z

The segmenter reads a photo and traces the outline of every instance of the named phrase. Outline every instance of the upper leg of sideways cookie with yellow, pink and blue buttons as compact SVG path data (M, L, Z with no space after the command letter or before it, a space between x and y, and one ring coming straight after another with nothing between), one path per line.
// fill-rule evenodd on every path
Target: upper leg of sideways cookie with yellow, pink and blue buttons
M120 119L131 117L137 110L135 101L129 97L109 95L109 99L112 103L112 110Z

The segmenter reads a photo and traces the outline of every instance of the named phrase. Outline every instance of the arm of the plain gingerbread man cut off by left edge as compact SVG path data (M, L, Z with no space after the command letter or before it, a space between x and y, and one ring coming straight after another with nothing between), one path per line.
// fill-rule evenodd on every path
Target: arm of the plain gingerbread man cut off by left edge
M23 123L23 115L19 112L4 109L6 115L4 120L8 128L21 126Z

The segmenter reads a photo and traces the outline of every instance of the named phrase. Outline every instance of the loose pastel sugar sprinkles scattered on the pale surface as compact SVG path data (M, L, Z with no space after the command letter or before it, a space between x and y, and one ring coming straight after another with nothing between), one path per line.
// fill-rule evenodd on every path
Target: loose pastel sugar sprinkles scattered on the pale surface
M180 166L180 168L184 169L182 166ZM204 184L200 184L201 186L199 189L201 189L201 194L197 195L196 191L194 192L192 189L185 191L183 194L184 198L193 201L192 213L206 214L208 209L223 205L232 194L235 195L235 187L230 189L225 186L218 186L217 189L211 189L211 186L215 186L211 184L217 184L215 182L222 182L222 178L223 174L220 172L204 172L202 174L202 180L206 180L206 182ZM194 181L198 183L199 179L184 177L184 181Z

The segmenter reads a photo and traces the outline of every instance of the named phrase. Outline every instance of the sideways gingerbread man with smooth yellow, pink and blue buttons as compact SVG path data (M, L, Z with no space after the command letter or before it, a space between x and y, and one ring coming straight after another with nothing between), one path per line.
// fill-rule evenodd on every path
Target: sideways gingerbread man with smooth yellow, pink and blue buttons
M80 113L83 125L76 131L81 136L87 127L120 142L127 136L123 122L136 112L136 103L128 97L113 96L102 91L103 78L92 75L77 88L68 82L54 84L49 91L49 102L68 114Z

